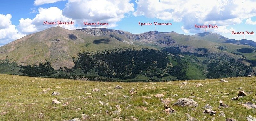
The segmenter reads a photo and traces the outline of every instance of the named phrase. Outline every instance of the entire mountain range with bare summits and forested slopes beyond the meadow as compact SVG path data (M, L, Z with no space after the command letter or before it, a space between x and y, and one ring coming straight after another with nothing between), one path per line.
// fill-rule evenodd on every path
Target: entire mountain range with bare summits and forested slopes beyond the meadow
M124 82L247 76L255 74L255 47L209 32L52 27L0 47L0 72Z

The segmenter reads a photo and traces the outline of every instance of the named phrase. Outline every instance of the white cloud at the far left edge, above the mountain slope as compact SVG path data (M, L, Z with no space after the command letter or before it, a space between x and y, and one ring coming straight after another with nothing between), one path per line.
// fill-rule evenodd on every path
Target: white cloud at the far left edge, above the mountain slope
M11 18L11 14L0 14L0 46L25 36L18 32L15 25L12 25Z

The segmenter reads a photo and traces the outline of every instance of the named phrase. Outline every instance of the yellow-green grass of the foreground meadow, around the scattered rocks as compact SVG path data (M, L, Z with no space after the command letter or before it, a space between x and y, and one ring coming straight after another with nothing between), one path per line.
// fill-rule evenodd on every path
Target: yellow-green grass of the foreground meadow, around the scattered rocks
M256 117L256 109L246 109L241 104L251 101L255 102L256 77L237 77L227 78L229 82L220 82L220 79L191 80L183 85L185 81L173 82L152 82L152 83L123 83L123 82L88 82L80 80L34 78L14 75L0 75L0 120L28 120L28 121L62 121L73 118L82 119L81 114L89 115L90 121L96 120L138 120L156 121L159 117L170 121L185 121L185 113L189 113L197 120L211 120L215 117L216 121L224 121L226 118L235 118L236 121L247 121L246 117L251 115ZM196 87L198 83L203 84ZM115 89L116 85L121 85L123 89ZM57 88L59 87L59 88ZM230 99L236 97L242 89L250 92L248 95L236 101ZM46 93L40 94L43 89L52 89ZM92 89L100 89L99 92L93 92ZM137 93L132 94L129 91L134 88ZM53 91L58 91L60 95L52 96ZM87 92L85 92L87 91ZM206 91L208 91L206 93ZM112 92L113 95L103 96ZM90 94L91 93L91 94ZM163 99L174 99L169 106L176 110L173 114L162 112L164 104L160 98L154 97L155 94L164 94ZM225 94L225 93L229 93ZM178 96L172 97L174 94ZM129 96L125 98L123 95ZM92 98L83 98L92 96ZM142 98L150 96L152 99ZM192 107L173 106L179 98L193 98L198 107L193 107L196 111L189 111ZM200 98L197 98L200 97ZM61 104L52 104L52 100L57 98ZM146 105L143 100L148 102ZM230 108L219 109L219 101L231 106ZM109 103L108 106L101 105L99 101ZM69 102L67 106L62 104ZM239 103L239 104L238 104ZM241 104L240 104L241 103ZM134 106L128 107L128 104ZM203 114L204 106L210 104L216 111L215 116ZM121 113L115 114L118 109L115 105L120 105ZM111 106L111 107L110 107ZM127 108L126 108L127 107ZM108 113L106 113L106 110ZM220 111L225 113L225 117L219 116ZM133 116L134 118L132 118ZM206 116L206 117L204 117Z

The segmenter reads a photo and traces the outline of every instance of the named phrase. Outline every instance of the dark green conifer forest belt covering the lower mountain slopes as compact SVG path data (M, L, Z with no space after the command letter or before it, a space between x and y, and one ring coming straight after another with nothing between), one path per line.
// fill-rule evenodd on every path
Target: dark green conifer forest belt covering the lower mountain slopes
M1 62L0 72L15 75L67 78L91 81L170 81L206 78L247 76L252 67L225 54L207 53L206 48L197 48L201 53L181 52L179 47L154 49L115 49L100 52L79 53L72 58L72 68L52 68L50 61L39 65L17 66ZM251 50L238 50L244 53ZM236 53L235 53L236 54ZM238 53L239 54L239 53ZM6 60L7 61L7 60Z

